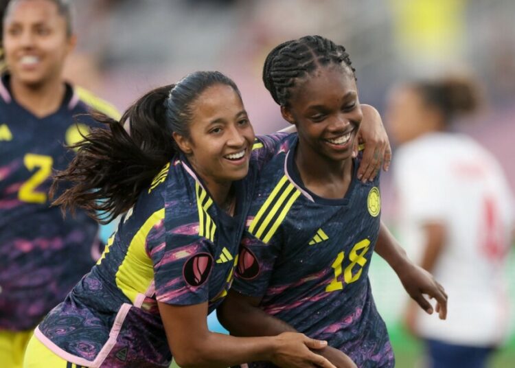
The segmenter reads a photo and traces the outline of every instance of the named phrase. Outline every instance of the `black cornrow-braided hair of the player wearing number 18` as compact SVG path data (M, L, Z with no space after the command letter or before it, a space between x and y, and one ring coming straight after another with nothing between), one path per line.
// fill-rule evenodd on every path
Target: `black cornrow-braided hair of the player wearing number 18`
M356 78L345 47L322 36L305 36L276 46L264 62L263 82L273 100L287 106L295 80L305 78L319 67L329 64L349 67Z

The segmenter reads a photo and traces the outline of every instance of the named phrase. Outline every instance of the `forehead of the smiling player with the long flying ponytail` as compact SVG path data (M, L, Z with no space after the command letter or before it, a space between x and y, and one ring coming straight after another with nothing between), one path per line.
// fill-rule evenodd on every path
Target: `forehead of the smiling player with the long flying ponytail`
M243 103L236 91L227 84L207 87L192 104L195 119L233 117L243 110Z

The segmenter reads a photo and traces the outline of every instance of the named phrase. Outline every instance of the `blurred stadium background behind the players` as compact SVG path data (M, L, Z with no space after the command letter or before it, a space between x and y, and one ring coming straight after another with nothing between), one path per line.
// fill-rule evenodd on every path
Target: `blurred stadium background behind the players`
M499 157L515 192L515 1L513 0L75 0L79 45L67 76L124 110L135 97L190 71L218 69L240 87L256 133L284 127L261 81L278 43L321 34L347 47L361 102L382 112L385 94L408 78L466 73L487 104L459 126ZM395 154L393 155L395 160ZM391 176L382 176L383 219L395 229ZM107 232L108 229L105 230ZM514 252L510 296L515 299ZM404 293L376 257L374 297L398 367L416 367L420 345L402 329ZM452 296L450 296L452 302ZM515 300L512 300L512 316ZM481 316L478 316L481 318ZM211 328L220 330L216 318ZM515 365L514 319L493 367Z

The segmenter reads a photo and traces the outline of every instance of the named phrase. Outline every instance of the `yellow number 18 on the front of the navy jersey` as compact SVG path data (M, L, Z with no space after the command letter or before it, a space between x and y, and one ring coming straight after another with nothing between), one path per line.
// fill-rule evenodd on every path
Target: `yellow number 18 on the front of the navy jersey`
M352 250L349 253L350 264L345 267L345 271L343 271L343 281L345 284L351 284L354 281L357 281L361 276L361 272L363 271L363 267L367 263L367 259L365 258L365 254L367 254L370 246L370 240L364 239L361 242L357 242L352 247ZM334 279L330 282L328 286L325 286L326 292L332 292L336 290L343 289L343 281L339 281L339 277L342 273L342 263L345 260L345 252L338 253L336 256L336 260L332 262L331 267L334 268ZM352 269L354 266L361 266L358 272L352 275Z

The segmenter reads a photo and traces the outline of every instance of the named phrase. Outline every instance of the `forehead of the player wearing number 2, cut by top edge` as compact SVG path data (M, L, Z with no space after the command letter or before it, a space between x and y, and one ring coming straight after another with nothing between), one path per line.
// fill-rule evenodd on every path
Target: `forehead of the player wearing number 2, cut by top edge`
M5 14L4 24L43 23L54 21L58 16L58 8L56 3L53 1L17 0L8 7L8 12Z

